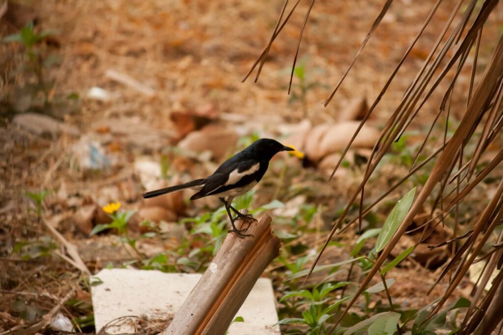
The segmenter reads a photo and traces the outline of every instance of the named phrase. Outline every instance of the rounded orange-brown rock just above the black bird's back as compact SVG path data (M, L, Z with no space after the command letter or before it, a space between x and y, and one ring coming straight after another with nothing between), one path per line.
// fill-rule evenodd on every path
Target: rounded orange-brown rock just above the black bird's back
M237 142L237 134L221 125L210 124L199 131L188 134L178 146L184 150L203 153L211 152L212 158L221 160L232 153Z

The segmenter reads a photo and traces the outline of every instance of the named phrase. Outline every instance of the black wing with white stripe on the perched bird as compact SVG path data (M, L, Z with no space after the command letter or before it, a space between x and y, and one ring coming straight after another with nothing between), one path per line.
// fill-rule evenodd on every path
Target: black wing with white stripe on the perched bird
M229 164L224 169L221 167L213 175L206 178L204 187L194 194L191 200L248 185L256 181L261 173L261 163L255 159Z

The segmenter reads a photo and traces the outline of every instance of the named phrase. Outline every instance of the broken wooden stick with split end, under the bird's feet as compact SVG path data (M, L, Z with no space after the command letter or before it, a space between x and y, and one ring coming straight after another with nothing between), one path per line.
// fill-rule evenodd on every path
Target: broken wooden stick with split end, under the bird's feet
M237 226L247 223L237 221ZM229 233L215 258L164 331L171 334L223 334L251 288L279 255L281 242L263 215L239 238Z

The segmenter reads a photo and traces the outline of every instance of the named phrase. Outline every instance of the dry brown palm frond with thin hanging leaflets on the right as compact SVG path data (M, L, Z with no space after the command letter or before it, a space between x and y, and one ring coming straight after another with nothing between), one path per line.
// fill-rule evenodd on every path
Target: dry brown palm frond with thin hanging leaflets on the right
M311 4L305 16L304 25L302 26L299 41L297 44L295 59L297 58L302 31L306 25L306 21L309 17L313 3L314 1L311 1ZM435 3L435 5L433 5L430 15L426 19L423 27L420 29L416 37L413 39L413 41L405 51L403 57L395 67L395 70L386 81L383 89L378 94L376 100L371 105L368 112L361 121L360 126L358 127L354 136L343 151L342 156L332 173L332 177L342 163L357 134L362 129L363 125L368 120L369 116L375 110L383 95L388 90L391 81L397 74L398 69L401 67L404 60L409 55L417 40L421 38L425 28L431 22L441 3L442 0L439 0ZM498 224L501 224L503 220L502 180L500 181L497 190L492 195L491 201L481 211L481 214L477 217L477 219L468 224L468 226L471 227L468 227L469 229L467 230L470 231L468 233L465 233L463 236L457 236L459 203L486 176L488 176L496 168L496 166L498 166L501 160L503 160L503 149L500 149L499 153L490 160L490 162L476 175L473 180L471 180L472 176L475 174L482 154L487 150L487 148L491 145L496 147L501 145L501 143L497 144L496 142L498 136L501 134L501 129L503 128L503 61L501 61L503 59L503 37L500 37L495 46L491 45L490 43L487 46L483 45L484 42L482 40L482 30L488 22L489 15L495 9L498 3L497 0L485 0L481 5L476 0L469 0L460 16L459 12L464 3L465 1L463 0L456 2L449 19L445 23L444 28L438 33L437 41L434 43L428 57L426 57L423 66L420 70L418 70L416 76L410 82L410 85L404 92L404 96L401 102L398 104L398 106L384 125L384 128L381 131L380 136L376 141L370 158L367 162L365 174L363 176L361 184L352 194L345 210L343 211L337 222L333 225L331 232L326 238L324 246L321 248L317 258L315 259L311 267L312 271L319 261L321 254L325 250L332 236L338 231L338 229L342 228L341 225L343 224L344 219L349 213L350 208L358 199L359 195L361 195L359 217L353 219L347 226L342 228L343 230L347 229L352 223L356 222L357 220L361 222L362 217L366 213L368 213L370 209L374 207L379 201L381 201L390 192L396 189L420 167L425 166L427 161L436 159L435 166L430 172L427 182L425 183L421 192L417 195L408 214L400 224L396 233L393 235L393 237L390 239L390 241L382 251L381 255L379 255L374 266L368 272L356 294L347 304L344 312L339 316L339 320L337 321L336 325L342 320L345 314L356 302L358 297L364 292L367 285L377 274L380 267L389 256L391 250L396 246L400 237L404 233L406 233L414 217L418 213L420 213L426 201L430 197L432 197L434 191L438 191L438 194L435 193L434 195L434 202L431 208L430 217L427 220L427 223L415 229L423 229L421 237L421 240L423 240L433 231L434 227L432 227L431 225L432 222L435 222L434 226L442 223L447 214L454 210L453 236L451 236L451 239L449 241L440 244L444 245L447 243L452 243L452 259L447 264L442 274L439 276L437 283L442 280L445 275L448 274L451 270L455 269L455 271L451 276L450 283L445 294L435 305L428 318L431 318L442 308L447 299L453 293L454 289L460 283L461 279L466 275L468 268L476 261L476 258L479 256L482 247L488 240L490 234L493 233L494 227ZM387 12L390 5L391 1L384 2L384 6L379 16L375 19L374 24L372 25L365 40L361 44L359 51L357 52L347 70L344 72L336 88L324 102L325 106L336 94L337 90L341 86L341 83L364 49L371 34L378 27L379 23L382 20L382 17ZM459 19L457 20L457 23L455 23L456 18L458 17ZM286 23L286 21L284 23ZM453 25L453 23L455 24ZM279 22L277 28L278 26ZM271 43L273 42L276 35L277 29L275 29L275 33L273 34L270 44L265 50L269 51ZM479 64L477 64L477 62L480 59L479 50L481 50L482 46L484 47L484 49L493 48L493 50L490 60L485 66L482 77L478 82L475 82L475 70L477 69L477 67L479 67ZM262 57L265 57L265 54L267 54L267 52L263 52L258 61L262 60L263 62L264 58ZM470 57L470 54L472 54L473 57ZM457 96L459 94L455 92L458 79L461 76L463 69L467 67L468 60L471 59L473 60L473 62L471 63L469 89L465 92L467 100L466 109L464 111L462 120L457 126L453 135L448 138L447 123L449 122L449 118L451 117L451 101L453 99L453 96ZM447 85L447 89L444 92L439 92L443 87L442 85L440 85L441 82L446 81L448 78L450 82ZM415 155L409 174L403 177L398 183L393 185L390 190L388 190L383 196L379 197L370 206L367 206L365 208L363 204L365 196L364 189L366 183L369 181L371 175L376 170L376 167L381 161L382 157L389 151L392 143L399 139L400 136L402 136L405 130L409 127L409 125L417 119L417 116L420 115L420 113L423 111L425 104L427 103L427 101L429 101L434 93L441 93L443 95L443 99L439 106L438 113L436 114L434 121L431 124L430 130L428 131L422 145ZM430 135L434 130L434 126L440 120L440 117L443 114L445 115L445 118L447 120L443 135L444 145L438 150L434 151L434 153L432 153L427 158L427 160L421 162L416 166L418 157L420 157L421 153L427 148L427 143L429 142ZM474 146L474 153L470 159L463 161L463 154L465 148L467 147L467 144L469 143L474 144L472 145ZM456 181L456 184L453 187L450 186L450 184L454 181ZM464 187L461 187L461 183L466 183L466 185L464 185ZM445 192L448 192L447 196L444 195ZM455 196L447 203L447 199L451 194L454 194ZM434 215L437 207L440 209L440 214ZM463 239L465 239L464 242L459 248L456 249L456 243L454 242L461 242L461 240ZM502 239L503 237L500 235L498 243L500 243ZM471 306L466 312L465 319L461 325L460 332L462 333L470 333L474 331L478 323L481 324L479 326L481 327L480 329L483 329L483 331L480 333L489 333L503 319L503 314L498 314L497 312L503 307L503 299L501 299L503 297L503 287L499 285L503 281L503 275L501 275L501 272L494 280L491 290L487 294L485 294L485 296L483 290L485 284L487 284L490 278L490 274L492 274L492 271L502 262L503 249L499 248L499 246L495 247L488 258L489 263L479 278L480 286L475 292Z

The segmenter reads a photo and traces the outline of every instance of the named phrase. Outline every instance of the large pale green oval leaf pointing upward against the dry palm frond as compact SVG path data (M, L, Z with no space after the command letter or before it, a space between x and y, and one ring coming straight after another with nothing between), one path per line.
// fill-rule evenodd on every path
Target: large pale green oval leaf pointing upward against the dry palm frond
M398 200L395 207L393 207L393 209L391 210L391 213L389 213L386 221L384 222L384 225L382 226L382 230L379 233L379 236L377 236L377 253L379 253L384 248L384 246L386 246L388 241L395 234L396 230L398 230L400 223L402 223L405 215L407 215L410 206L412 205L414 194L415 187L407 192L407 194L405 194L402 199Z

